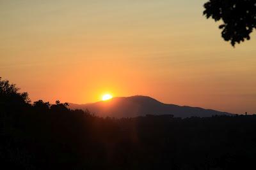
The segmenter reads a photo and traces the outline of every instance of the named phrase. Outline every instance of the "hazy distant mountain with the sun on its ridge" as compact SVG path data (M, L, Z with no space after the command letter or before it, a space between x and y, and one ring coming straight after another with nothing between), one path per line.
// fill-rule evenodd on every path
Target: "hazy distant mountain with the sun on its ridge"
M89 104L72 104L71 109L88 109L99 117L139 117L145 115L173 115L174 117L211 117L212 115L231 115L231 113L207 110L175 104L164 104L148 96L114 97L109 101Z

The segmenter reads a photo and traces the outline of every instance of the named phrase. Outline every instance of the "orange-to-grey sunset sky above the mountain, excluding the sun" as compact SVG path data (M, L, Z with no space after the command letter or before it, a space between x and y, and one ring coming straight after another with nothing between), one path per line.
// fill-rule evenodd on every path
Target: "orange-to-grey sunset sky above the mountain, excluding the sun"
M102 94L256 113L256 34L233 48L206 0L0 0L0 76L32 101Z

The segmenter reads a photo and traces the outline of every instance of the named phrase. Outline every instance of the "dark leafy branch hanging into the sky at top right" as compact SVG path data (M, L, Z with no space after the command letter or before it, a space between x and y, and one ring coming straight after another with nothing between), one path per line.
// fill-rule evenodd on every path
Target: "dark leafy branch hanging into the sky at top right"
M221 35L232 46L250 39L256 29L256 0L209 0L204 8L207 18L223 21Z

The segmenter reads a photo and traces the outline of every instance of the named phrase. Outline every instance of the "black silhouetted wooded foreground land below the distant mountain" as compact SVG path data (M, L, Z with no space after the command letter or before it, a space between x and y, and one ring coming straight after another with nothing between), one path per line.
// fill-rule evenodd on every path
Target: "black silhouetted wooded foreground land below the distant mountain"
M256 116L99 118L0 79L1 169L255 169Z

